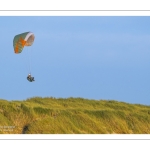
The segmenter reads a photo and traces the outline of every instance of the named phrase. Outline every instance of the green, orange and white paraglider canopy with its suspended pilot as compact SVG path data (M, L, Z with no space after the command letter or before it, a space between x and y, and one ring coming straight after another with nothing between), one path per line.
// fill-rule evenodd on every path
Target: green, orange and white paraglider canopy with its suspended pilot
M14 37L13 47L15 54L20 54L25 46L31 46L34 42L35 36L32 32L25 32L18 34ZM32 82L35 81L34 77L31 76L31 73L28 74L27 80Z

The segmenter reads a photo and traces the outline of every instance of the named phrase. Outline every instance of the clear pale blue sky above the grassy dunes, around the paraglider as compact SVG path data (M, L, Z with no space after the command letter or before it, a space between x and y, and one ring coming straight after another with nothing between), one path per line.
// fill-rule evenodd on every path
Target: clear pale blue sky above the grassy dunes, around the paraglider
M150 105L150 17L0 17L0 98L83 97ZM21 54L15 35L35 41ZM26 80L29 73L35 82Z

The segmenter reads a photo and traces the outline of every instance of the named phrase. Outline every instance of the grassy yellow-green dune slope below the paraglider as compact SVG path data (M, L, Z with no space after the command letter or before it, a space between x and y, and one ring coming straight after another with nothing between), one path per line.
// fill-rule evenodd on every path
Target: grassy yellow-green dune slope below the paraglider
M150 106L82 98L0 100L0 133L149 134Z

